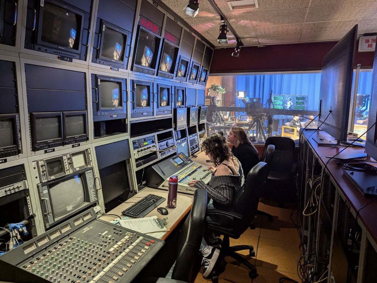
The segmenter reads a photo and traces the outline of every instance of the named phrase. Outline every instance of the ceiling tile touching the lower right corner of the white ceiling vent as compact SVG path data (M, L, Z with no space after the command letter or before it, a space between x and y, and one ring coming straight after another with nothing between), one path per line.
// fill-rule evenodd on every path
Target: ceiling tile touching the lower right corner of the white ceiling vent
M256 26L275 26L303 23L307 9L248 12L251 23Z

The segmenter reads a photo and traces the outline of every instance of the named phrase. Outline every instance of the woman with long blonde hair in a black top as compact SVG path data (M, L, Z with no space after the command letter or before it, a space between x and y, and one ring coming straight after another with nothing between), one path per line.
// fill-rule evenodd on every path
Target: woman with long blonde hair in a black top
M231 128L228 134L228 142L233 145L231 151L241 163L246 179L251 168L257 165L259 162L258 151L242 128Z

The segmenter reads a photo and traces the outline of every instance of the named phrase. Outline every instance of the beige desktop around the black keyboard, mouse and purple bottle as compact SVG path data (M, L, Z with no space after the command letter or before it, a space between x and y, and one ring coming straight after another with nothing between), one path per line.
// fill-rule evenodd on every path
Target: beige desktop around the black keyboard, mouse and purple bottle
M207 163L205 160L207 160L208 157L205 155L204 152L201 152L198 154L197 158L193 158L194 161L201 163L205 166L213 166L212 163ZM161 238L161 240L165 240L170 233L178 226L178 224L182 221L182 219L189 214L191 207L192 207L192 202L194 195L192 194L183 194L178 192L177 193L177 207L176 208L168 208L167 207L167 195L168 191L167 190L162 190L162 189L154 189L154 188L145 188L143 191L140 191L138 194L134 195L133 197L129 198L126 200L124 203L121 205L118 205L116 208L110 210L107 212L108 214L115 214L122 216L122 211L124 211L126 208L129 208L131 205L133 205L135 202L138 200L141 200L141 198L146 197L149 194L155 194L159 195L161 197L166 198L166 200L159 205L158 207L164 207L168 210L169 214L168 215L161 215L157 211L157 208L153 209L149 214L146 215L146 217L151 217L151 216L160 216L162 218L167 217L168 220L168 227L170 228L170 231L167 231L165 235ZM100 219L105 220L105 221L113 221L115 219L114 216L102 216Z

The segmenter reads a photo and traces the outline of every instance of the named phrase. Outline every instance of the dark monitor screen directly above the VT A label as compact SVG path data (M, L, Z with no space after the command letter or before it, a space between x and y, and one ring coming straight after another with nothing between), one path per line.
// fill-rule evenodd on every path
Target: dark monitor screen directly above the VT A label
M45 2L43 6L41 40L78 50L82 17L67 9Z

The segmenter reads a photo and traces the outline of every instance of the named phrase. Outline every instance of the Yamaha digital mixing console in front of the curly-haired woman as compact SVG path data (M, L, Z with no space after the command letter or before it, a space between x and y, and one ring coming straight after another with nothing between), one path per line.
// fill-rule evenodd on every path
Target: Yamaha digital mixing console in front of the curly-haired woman
M169 178L178 175L178 191L193 194L196 190L190 187L192 180L202 180L208 183L211 180L212 172L207 166L192 161L184 153L162 160L147 169L147 186L159 189L169 189Z

